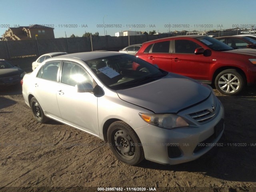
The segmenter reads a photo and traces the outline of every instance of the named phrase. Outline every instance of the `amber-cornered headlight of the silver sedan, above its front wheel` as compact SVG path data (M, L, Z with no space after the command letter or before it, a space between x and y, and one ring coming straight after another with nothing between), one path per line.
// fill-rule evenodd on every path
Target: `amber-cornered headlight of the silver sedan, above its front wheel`
M139 113L140 117L148 124L172 129L176 127L186 127L188 123L181 117L175 114L144 114Z

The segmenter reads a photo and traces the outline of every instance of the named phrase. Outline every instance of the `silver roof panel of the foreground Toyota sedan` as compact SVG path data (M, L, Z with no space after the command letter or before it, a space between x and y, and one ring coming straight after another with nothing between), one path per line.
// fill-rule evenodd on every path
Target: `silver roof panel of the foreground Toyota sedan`
M108 57L108 56L115 56L115 55L124 55L124 53L110 52L110 51L92 51L92 52L66 54L66 55L56 56L54 58L59 58L59 59L78 58L83 61L87 61L87 60Z

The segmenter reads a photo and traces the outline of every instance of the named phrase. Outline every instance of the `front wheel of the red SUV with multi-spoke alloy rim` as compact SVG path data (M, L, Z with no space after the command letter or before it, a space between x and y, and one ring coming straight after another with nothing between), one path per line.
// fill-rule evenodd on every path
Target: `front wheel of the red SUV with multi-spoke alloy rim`
M215 78L216 89L225 95L236 95L245 86L243 76L235 69L227 69L220 72Z

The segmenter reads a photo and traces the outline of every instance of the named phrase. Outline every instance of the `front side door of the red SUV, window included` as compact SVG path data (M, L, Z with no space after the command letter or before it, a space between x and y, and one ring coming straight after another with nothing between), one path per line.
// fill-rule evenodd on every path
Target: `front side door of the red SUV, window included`
M196 80L207 80L209 76L210 57L196 55L195 49L200 48L192 40L173 40L172 72Z

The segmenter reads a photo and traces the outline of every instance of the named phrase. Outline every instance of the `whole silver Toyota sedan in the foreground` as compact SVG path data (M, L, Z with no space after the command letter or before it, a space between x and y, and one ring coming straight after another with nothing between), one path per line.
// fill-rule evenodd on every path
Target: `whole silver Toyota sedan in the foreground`
M88 132L130 165L194 160L224 131L224 108L208 85L118 52L50 58L24 76L22 94L38 122Z

